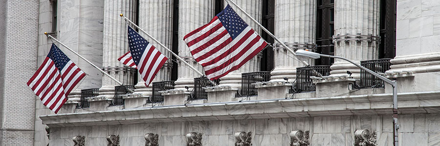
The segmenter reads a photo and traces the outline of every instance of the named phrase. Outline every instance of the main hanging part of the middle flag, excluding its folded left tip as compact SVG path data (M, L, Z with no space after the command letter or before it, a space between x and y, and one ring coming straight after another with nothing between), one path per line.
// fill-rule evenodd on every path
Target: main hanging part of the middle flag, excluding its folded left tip
M130 26L128 27L128 37L134 64L145 81L145 86L148 87L168 58Z

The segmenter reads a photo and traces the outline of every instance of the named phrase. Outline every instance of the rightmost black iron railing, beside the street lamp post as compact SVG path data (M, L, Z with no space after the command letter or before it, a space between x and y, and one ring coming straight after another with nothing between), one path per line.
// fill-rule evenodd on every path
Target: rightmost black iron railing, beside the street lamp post
M385 73L390 70L392 65L391 59L377 59L361 61L361 66L372 70L375 73ZM367 73L365 70L361 70L359 87L361 88L381 88L385 87L383 80L375 77L373 74Z

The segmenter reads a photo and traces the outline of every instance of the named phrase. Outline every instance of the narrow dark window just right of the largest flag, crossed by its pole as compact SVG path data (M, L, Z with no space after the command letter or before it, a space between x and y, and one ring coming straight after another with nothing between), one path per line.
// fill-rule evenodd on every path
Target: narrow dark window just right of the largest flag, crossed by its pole
M275 30L275 0L263 0L262 5L262 25L273 34ZM257 28L254 28L257 29ZM269 44L273 44L274 39L266 32L261 30L261 37ZM272 47L267 47L262 51L261 71L271 71L274 66Z

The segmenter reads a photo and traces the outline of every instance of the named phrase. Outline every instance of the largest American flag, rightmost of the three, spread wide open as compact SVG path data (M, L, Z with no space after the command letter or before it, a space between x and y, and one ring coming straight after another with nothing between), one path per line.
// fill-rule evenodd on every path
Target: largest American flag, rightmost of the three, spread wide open
M211 80L240 69L267 45L229 5L183 40Z

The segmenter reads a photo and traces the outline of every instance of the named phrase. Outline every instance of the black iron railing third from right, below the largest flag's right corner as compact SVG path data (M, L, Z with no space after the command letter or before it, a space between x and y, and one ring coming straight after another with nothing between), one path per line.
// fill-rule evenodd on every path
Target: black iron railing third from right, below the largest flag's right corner
M242 73L242 91L241 96L257 95L258 90L255 85L257 82L267 82L270 80L270 72ZM239 95L239 96L240 96Z

